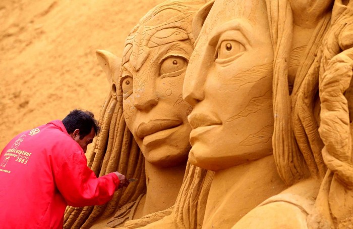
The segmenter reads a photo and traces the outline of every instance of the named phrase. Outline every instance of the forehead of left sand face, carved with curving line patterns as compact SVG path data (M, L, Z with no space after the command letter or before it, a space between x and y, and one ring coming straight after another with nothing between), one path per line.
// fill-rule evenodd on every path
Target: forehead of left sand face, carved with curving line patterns
M175 41L190 39L194 42L191 30L192 14L177 7L158 8L142 18L128 36L123 53L123 65L130 62L138 71L151 53ZM153 17L152 17L153 16Z

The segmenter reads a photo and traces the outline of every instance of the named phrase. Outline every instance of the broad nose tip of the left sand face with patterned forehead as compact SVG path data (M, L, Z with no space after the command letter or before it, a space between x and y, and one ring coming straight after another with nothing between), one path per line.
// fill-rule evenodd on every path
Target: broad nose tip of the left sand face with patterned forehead
M140 87L134 94L134 106L140 111L150 111L158 104L158 97L152 85Z

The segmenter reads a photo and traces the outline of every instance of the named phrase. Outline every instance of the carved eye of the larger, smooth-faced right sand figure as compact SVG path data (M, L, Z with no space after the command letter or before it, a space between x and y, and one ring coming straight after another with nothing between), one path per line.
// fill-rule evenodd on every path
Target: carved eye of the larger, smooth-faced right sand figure
M243 44L236 40L223 40L218 46L216 59L223 60L236 57L238 54L243 53L245 47Z

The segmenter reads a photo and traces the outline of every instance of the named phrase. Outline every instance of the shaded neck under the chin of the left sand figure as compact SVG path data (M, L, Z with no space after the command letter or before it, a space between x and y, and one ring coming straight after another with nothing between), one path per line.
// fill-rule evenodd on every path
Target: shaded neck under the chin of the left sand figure
M134 219L173 206L182 186L185 169L186 163L160 168L145 161L147 192L137 207Z

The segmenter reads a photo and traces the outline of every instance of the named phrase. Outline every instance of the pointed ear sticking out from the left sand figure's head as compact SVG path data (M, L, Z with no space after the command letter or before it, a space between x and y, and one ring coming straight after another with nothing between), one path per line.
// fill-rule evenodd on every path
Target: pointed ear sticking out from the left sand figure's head
M105 50L97 50L96 56L99 65L107 76L108 82L112 84L114 75L120 72L121 59Z

